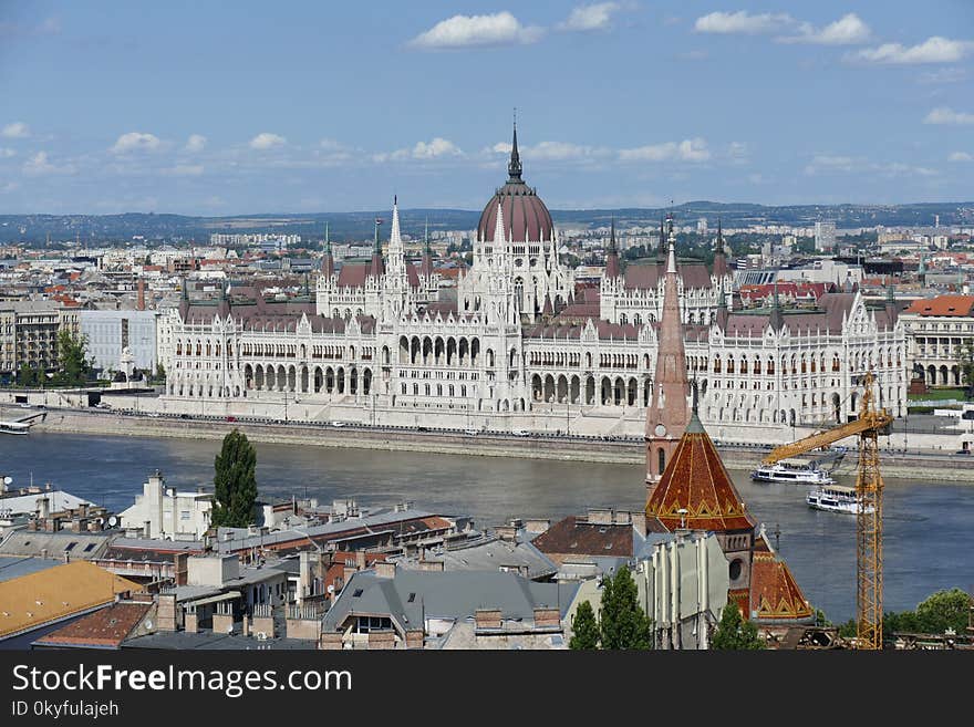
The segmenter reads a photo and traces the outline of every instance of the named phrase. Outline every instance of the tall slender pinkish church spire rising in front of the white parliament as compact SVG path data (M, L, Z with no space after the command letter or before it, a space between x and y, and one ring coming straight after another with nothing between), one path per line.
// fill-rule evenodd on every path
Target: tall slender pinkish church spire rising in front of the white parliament
M670 231L666 278L663 287L663 315L659 328L653 395L646 409L646 489L652 497L666 463L690 422L686 401L686 352L680 314L676 278L676 236Z

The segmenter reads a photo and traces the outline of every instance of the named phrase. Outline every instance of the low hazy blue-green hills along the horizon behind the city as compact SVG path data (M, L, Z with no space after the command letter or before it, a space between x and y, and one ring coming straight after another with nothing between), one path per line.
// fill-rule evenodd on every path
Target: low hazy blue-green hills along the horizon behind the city
M667 211L677 222L694 222L706 217L711 226L717 218L727 227L755 224L812 225L817 220L835 220L839 228L885 226L932 226L940 216L942 226L974 224L974 202L925 202L913 205L764 205L692 201L672 208L623 209L556 209L551 216L557 225L605 226L614 218L618 226L653 226ZM333 240L363 240L373 235L375 218L382 218L383 239L388 237L390 210L364 212L329 212L310 215L261 214L236 217L189 217L127 212L124 215L0 215L0 245L64 242L82 239L89 243L131 240L144 236L149 241L188 241L207 243L211 232L280 231L318 239L328 221ZM428 219L431 230L473 230L480 212L465 209L400 210L403 232L422 237Z

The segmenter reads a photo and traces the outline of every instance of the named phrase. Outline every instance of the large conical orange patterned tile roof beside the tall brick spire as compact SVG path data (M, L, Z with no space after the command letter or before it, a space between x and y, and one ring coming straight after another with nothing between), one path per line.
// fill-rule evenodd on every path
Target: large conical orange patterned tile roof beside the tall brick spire
M681 516L681 509L686 513ZM756 525L696 414L646 502L646 516L659 519L667 530L680 528L681 521L691 530L713 532Z

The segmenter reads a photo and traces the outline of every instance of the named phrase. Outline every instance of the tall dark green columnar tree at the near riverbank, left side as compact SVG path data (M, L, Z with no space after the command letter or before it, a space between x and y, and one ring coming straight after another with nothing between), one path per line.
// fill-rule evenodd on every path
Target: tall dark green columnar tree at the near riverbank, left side
M252 525L253 502L257 499L257 453L247 435L234 429L224 437L214 468L216 501L210 523L229 528Z

